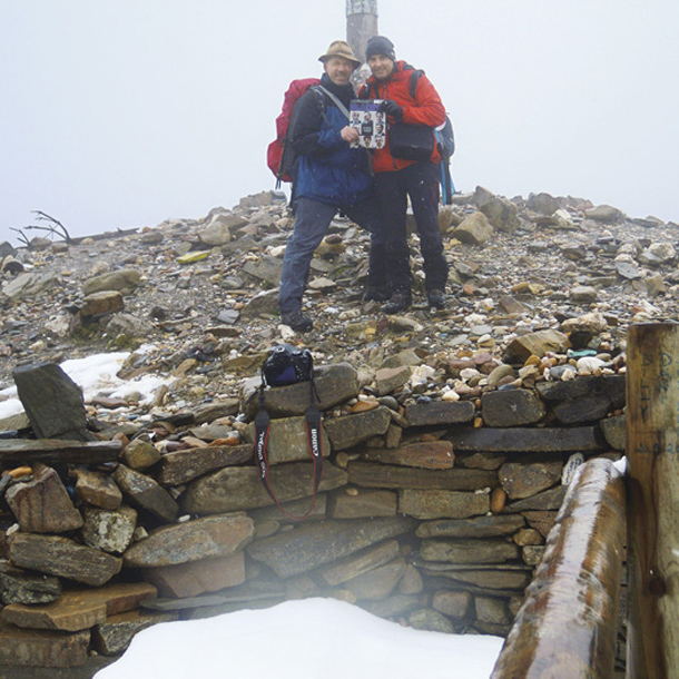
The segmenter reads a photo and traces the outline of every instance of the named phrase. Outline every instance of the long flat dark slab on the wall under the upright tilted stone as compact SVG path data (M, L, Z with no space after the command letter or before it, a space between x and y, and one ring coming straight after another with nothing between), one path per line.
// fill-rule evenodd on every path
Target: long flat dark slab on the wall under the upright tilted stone
M37 441L12 439L0 441L0 464L17 466L45 462L53 464L101 464L118 460L121 441L62 441L61 439L39 439Z

